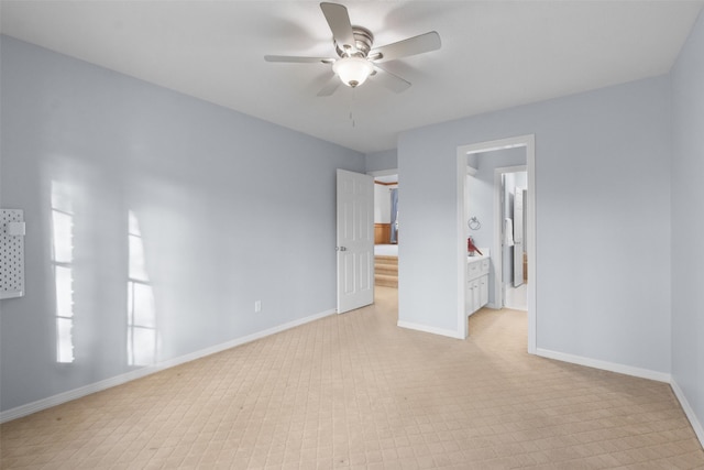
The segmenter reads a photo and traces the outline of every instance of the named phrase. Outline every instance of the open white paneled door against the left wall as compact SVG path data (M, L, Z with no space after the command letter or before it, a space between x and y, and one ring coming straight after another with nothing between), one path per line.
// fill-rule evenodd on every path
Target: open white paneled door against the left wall
M374 178L338 170L338 314L374 302Z

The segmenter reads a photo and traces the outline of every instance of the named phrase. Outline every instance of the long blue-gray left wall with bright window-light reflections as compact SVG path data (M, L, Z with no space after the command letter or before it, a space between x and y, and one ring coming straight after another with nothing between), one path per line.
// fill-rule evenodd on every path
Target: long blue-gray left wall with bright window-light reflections
M24 209L28 231L26 296L2 300L1 409L135 369L129 211L157 361L334 308L336 168L363 173L363 154L7 36L1 47L2 207ZM68 364L56 362L53 184L74 212Z

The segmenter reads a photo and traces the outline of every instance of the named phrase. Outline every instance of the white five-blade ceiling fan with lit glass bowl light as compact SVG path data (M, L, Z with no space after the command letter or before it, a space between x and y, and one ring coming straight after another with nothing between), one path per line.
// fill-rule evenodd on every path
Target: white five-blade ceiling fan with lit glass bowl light
M330 77L318 96L332 95L340 83L355 88L370 76L374 77L374 81L392 91L404 91L410 87L410 83L384 69L378 64L440 48L440 35L436 31L381 47L373 47L374 34L366 28L353 26L344 6L322 2L320 9L332 31L332 41L338 57L264 56L266 62L332 64L334 75Z

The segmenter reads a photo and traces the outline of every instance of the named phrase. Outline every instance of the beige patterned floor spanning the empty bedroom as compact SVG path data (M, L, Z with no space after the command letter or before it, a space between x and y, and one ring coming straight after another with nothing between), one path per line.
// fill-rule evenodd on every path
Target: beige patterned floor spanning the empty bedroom
M396 289L2 425L2 468L704 469L669 385L528 356L526 314L459 341Z

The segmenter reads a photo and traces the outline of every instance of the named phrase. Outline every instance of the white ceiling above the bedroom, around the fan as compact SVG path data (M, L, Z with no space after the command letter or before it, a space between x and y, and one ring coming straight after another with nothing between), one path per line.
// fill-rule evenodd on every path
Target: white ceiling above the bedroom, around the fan
M360 152L399 131L667 73L702 1L344 1L380 46L437 31L440 51L385 63L413 83L316 94L334 56L315 1L2 0L0 31ZM354 118L354 125L350 113Z

